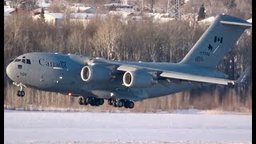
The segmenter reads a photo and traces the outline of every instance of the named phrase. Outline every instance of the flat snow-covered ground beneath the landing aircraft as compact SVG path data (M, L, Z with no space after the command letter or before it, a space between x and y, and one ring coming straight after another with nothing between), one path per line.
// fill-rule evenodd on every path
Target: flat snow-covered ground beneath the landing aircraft
M252 143L252 116L178 110L174 114L5 110L14 143Z

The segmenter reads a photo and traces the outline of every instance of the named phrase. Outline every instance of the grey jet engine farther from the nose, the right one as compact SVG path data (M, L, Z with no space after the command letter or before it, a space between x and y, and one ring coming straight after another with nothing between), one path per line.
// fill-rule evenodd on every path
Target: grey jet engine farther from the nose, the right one
M154 84L151 74L142 71L126 71L123 74L122 82L128 87L147 87Z

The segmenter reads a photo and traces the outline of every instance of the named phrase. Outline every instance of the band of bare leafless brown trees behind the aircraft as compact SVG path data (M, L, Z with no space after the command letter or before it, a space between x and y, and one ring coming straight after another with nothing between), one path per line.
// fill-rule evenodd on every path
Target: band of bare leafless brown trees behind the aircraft
M68 20L52 26L42 21L33 21L28 14L14 14L4 23L5 68L11 59L18 55L35 51L78 53L120 61L180 62L207 29L207 26L197 24L191 26L190 22L186 21L158 23L150 18L143 18L142 21L128 19L123 22L120 19L118 16L96 16L86 26ZM242 34L217 69L230 75L230 78L237 79L239 74L251 65L251 43L251 35ZM18 87L11 84L6 72L4 79L6 108L30 109L32 106L38 109L41 106L115 110L107 105L97 108L79 106L77 98L29 88L25 89L24 98L18 98ZM234 89L212 86L147 99L144 102L136 102L134 109L130 111L188 108L251 111L251 74L247 82L246 85Z

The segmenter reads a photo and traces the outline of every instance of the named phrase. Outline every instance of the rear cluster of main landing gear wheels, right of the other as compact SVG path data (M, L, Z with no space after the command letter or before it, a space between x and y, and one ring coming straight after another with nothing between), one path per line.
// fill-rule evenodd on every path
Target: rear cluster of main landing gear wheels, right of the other
M114 106L114 107L124 106L125 108L130 108L130 109L134 108L134 102L126 99L116 100L114 98L109 98L108 103L110 106Z

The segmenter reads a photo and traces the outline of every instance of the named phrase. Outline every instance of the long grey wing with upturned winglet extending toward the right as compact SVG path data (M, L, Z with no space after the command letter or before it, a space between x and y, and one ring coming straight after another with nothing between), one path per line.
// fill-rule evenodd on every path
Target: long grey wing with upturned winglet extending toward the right
M238 78L237 81L225 79L225 78L214 78L214 77L206 77L196 74L186 74L186 73L180 73L176 71L170 71L170 70L158 70L143 66L129 66L129 65L122 65L118 67L118 70L122 71L134 71L134 70L146 70L146 71L159 71L161 74L160 76L163 78L176 78L176 79L182 79L187 81L194 81L194 82L208 82L208 83L214 83L214 84L222 84L222 85L234 85L235 83L241 83L245 81L246 76L249 74L250 67L248 67L245 72L241 75L240 78Z

